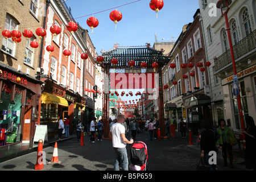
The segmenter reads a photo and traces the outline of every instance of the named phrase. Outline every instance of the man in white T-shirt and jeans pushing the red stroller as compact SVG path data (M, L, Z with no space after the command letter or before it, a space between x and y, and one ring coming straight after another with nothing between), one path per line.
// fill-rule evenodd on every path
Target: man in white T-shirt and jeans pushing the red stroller
M123 171L128 171L128 156L126 151L126 143L132 144L133 139L130 141L125 137L125 127L122 123L125 122L125 115L117 115L117 123L112 125L109 137L112 138L112 145L115 151L115 164L114 171L119 171L119 165L122 163Z

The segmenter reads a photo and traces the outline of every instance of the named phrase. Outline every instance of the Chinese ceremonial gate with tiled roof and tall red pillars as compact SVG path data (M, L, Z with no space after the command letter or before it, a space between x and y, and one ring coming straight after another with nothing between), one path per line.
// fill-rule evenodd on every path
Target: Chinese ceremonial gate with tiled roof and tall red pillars
M158 86L158 105L159 105L159 125L160 125L160 135L164 137L165 135L165 130L164 130L164 107L163 107L163 83L162 83L162 68L164 65L168 64L168 62L171 60L170 56L164 56L163 51L156 51L153 48L150 48L150 44L147 44L145 47L129 47L129 48L119 48L115 46L113 49L110 51L102 52L102 56L104 57L104 61L100 64L101 67L104 70L104 92L103 92L103 115L102 119L104 122L104 138L109 138L109 87L112 80L112 76L110 76L110 69L121 69L129 72L133 70L138 70L142 69L141 63L144 62L147 64L147 66L144 68L146 69L146 77L147 78L147 84L146 86L153 87L155 85L150 85L152 80L150 80L148 75L154 75L154 73L158 73L158 82L156 85ZM112 64L111 60L112 59L117 59L118 63L117 64ZM135 65L131 67L129 65L129 61L133 60L135 62ZM158 63L158 68L156 68L156 72L153 71L152 63ZM145 73L145 74L146 74ZM152 73L152 74L151 74ZM125 76L125 75L123 75ZM153 78L155 78L153 76ZM129 80L129 79L127 79ZM122 80L124 81L124 80ZM138 82L143 82L138 81ZM113 83L112 83L113 84ZM116 85L116 84L114 84ZM125 86L126 84L123 84L122 86ZM129 84L127 84L129 85ZM134 84L132 86L134 88ZM129 89L129 87L128 87Z

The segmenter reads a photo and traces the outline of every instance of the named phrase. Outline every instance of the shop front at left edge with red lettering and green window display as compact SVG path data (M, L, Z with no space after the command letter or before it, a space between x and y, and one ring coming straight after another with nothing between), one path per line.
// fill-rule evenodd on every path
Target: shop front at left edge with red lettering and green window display
M42 81L0 65L0 146L32 143Z

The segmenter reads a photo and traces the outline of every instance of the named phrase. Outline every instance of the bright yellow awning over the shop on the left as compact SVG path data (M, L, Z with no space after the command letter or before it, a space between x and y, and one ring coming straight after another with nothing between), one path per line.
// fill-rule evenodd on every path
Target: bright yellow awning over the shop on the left
M63 97L55 96L51 93L44 92L42 94L42 104L59 104L68 107L68 101Z

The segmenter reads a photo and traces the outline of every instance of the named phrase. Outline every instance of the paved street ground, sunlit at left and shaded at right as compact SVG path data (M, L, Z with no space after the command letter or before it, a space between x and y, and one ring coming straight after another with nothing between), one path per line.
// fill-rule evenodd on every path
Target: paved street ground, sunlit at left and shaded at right
M130 135L126 135L130 138ZM192 136L192 143L187 138L181 138L176 132L175 138L153 139L147 131L138 133L136 141L146 143L148 148L148 170L149 171L196 171L200 160L200 145L196 142L197 136ZM59 163L54 165L51 162L54 144L57 142L57 154ZM130 149L127 144L127 154L130 164ZM9 148L9 149L8 149ZM22 146L15 144L9 147L0 148L0 171L36 171L38 144ZM113 171L115 155L112 142L109 139L89 142L89 137L84 137L84 146L77 141L76 135L72 135L61 142L52 140L45 143L43 151L46 154L46 164L40 171ZM234 160L233 168L222 167L224 161L221 155L217 155L218 171L251 171L243 164L244 159L238 152L238 147L233 147ZM229 161L229 160L228 160ZM165 173L168 175L168 173ZM97 174L96 174L97 176Z

